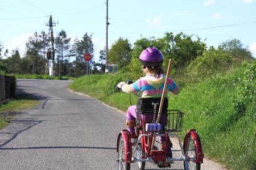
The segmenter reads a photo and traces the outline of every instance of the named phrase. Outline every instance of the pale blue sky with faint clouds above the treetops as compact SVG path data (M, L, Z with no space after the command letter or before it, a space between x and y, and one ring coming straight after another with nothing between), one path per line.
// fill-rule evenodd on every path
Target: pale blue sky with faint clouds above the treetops
M0 0L0 41L5 49L24 45L35 31L48 32L52 15L54 33L69 37L93 34L94 57L106 41L106 0ZM141 37L163 37L164 32L197 35L207 46L233 38L256 57L256 0L109 0L109 48L119 37L131 44Z

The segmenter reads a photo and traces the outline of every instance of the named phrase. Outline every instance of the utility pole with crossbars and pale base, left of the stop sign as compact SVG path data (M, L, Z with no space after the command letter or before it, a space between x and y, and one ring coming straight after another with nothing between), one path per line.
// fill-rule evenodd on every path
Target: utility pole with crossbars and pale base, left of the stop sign
M52 22L52 15L50 15L49 22L46 24L49 26L49 50L47 52L47 59L49 62L49 75L55 76L55 50L54 50L54 38L53 38L53 26L56 26L58 23Z

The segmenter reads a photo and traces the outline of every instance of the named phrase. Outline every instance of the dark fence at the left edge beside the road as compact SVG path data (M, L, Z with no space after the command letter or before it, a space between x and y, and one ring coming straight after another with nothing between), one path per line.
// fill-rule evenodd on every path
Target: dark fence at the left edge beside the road
M0 103L15 96L15 76L0 75Z

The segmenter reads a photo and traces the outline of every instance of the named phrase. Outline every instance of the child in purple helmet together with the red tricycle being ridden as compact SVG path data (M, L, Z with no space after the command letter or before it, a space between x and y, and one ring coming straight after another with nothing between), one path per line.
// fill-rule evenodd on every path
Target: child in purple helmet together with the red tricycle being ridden
M138 169L144 169L146 162L155 163L158 167L171 167L175 161L183 161L185 169L200 169L203 163L203 151L199 135L189 130L182 145L176 132L181 131L184 113L168 110L167 92L179 94L179 87L162 69L163 54L156 48L143 50L139 59L146 76L134 83L121 82L117 85L123 92L141 91L137 105L127 109L126 127L118 135L117 152L118 168L130 169L130 164L138 162ZM160 141L156 141L156 137ZM182 156L174 158L170 138L177 137ZM155 145L160 143L160 147Z

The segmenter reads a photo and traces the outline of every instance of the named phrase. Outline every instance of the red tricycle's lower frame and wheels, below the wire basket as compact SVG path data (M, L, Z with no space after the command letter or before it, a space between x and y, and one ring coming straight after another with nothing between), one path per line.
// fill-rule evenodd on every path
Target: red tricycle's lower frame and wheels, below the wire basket
M170 120L170 118L169 118ZM138 162L139 169L143 170L146 162L155 163L160 168L170 166L175 161L184 163L184 169L200 169L200 164L203 163L203 149L200 141L199 134L195 129L188 130L183 144L179 138L177 131L164 130L147 132L144 130L144 124L137 124L136 133L138 136L137 142L132 143L130 133L127 130L122 130L117 139L117 152L118 152L118 168L130 169L130 164ZM180 129L181 130L181 129ZM153 148L151 150L153 137L165 137L166 143L163 148ZM176 137L179 142L180 157L170 157L166 154L167 146L170 144L171 137Z

